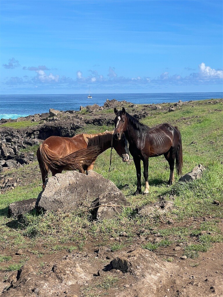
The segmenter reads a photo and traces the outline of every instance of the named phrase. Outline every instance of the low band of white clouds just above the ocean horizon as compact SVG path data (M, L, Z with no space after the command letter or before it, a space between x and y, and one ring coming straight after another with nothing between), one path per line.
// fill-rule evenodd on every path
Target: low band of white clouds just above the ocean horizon
M40 69L43 67L43 69ZM29 67L32 68L32 67ZM34 67L33 67L34 68ZM80 84L82 86L89 86L91 84L97 85L98 88L100 86L103 88L106 86L111 88L114 85L119 85L120 87L129 87L137 89L147 86L160 86L160 85L178 85L178 86L186 86L186 85L211 85L211 84L221 84L223 81L223 71L222 70L215 70L209 66L206 66L205 63L201 63L198 65L198 71L193 72L190 75L185 77L179 74L171 75L169 72L165 71L161 73L158 77L151 79L150 77L123 77L118 76L114 71L114 67L109 67L107 76L103 76L102 74L98 74L96 70L89 70L90 75L84 76L81 70L76 72L76 78L69 78L66 76L59 76L54 75L53 73L46 74L45 73L45 66L39 66L36 72L36 76L30 78L18 78L12 77L7 78L5 84L10 85L24 85L24 84L32 84L32 85L43 85L45 84L46 87L51 87L50 85L57 86L58 88L73 88L78 87ZM29 69L34 70L34 69ZM84 86L84 87L85 87Z

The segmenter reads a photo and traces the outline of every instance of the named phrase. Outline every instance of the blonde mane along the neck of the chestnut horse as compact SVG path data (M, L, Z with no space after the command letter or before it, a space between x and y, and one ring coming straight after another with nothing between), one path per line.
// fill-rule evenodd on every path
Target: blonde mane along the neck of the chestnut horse
M86 141L87 146L99 146L103 149L105 143L110 141L112 144L113 132L105 131L97 134L83 133L83 138Z

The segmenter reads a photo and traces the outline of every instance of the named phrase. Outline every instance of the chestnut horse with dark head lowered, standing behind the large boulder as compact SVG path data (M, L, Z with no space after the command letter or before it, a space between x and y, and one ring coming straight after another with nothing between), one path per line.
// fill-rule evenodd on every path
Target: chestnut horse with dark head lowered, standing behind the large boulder
M44 140L37 150L37 159L43 180L43 189L48 171L52 175L62 170L92 170L99 154L111 147L117 151L123 162L129 160L129 151L125 135L115 140L113 132L97 134L78 134L71 138L51 136Z

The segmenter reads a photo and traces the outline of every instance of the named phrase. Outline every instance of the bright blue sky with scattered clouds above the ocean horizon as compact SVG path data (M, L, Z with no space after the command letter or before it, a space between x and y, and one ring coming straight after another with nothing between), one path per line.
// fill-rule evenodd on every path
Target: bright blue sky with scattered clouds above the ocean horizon
M1 94L222 91L222 3L1 0Z

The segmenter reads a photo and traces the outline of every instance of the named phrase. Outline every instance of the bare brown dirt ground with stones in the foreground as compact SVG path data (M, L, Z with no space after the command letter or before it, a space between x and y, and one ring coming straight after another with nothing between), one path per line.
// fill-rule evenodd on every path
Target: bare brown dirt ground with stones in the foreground
M176 244L150 252L141 248L142 238L136 239L134 245L116 252L109 244L97 246L93 239L79 252L48 254L48 247L42 246L40 258L25 250L30 259L19 271L1 272L2 281L7 275L0 284L1 296L223 296L222 243L199 258L182 260L183 249L175 251ZM172 263L164 261L170 257ZM109 279L115 282L108 286Z

